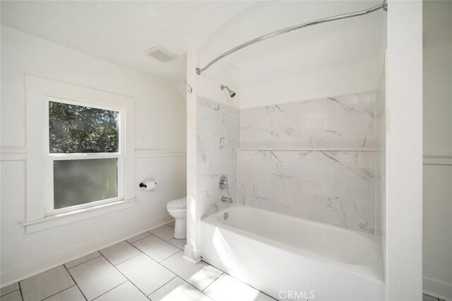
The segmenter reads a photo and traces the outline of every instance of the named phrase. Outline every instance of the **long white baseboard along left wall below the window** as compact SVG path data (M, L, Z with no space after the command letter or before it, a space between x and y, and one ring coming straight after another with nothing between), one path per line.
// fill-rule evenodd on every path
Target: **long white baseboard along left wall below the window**
M35 276L43 271L53 269L56 266L60 266L61 264L65 264L66 262L70 262L73 259L77 259L97 250L102 250L105 247L109 247L117 242L121 242L150 229L162 226L172 220L173 218L168 214L158 216L155 219L146 221L145 223L135 224L124 231L113 232L109 235L103 235L100 238L83 241L78 245L72 245L71 247L67 247L63 250L58 250L57 252L47 255L46 257L36 259L32 262L26 262L25 264L16 266L13 269L1 271L1 287L3 288L6 285Z

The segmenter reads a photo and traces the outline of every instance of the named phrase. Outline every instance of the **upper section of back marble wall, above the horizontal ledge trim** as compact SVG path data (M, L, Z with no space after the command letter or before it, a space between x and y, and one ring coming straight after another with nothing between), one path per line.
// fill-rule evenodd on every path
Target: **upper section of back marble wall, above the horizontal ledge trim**
M240 147L375 147L375 93L244 109Z

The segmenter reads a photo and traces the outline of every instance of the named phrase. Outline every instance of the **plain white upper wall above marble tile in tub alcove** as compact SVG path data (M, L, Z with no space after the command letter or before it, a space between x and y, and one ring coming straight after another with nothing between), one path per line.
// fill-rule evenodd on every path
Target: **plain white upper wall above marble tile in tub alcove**
M379 4L381 1L259 1L214 32L198 52L198 66L269 32ZM385 23L386 12L381 10L295 30L230 54L200 78L208 85L215 79L233 85L239 90L240 109L373 91L379 80L376 70L383 66ZM221 69L227 69L229 75ZM216 86L216 82L210 85L217 90ZM199 87L198 94L220 101L205 94L208 87Z

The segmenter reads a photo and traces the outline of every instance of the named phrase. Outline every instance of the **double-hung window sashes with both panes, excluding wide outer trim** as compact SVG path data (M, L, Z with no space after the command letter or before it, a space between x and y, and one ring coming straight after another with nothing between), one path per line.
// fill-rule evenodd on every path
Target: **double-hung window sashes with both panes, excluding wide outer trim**
M49 182L53 186L47 214L122 199L121 111L46 99Z

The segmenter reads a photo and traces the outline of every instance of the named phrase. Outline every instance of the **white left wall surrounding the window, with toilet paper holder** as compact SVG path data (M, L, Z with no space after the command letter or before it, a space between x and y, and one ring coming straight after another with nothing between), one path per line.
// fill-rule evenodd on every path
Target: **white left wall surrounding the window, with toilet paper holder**
M1 48L1 286L171 219L166 203L186 195L186 106L179 92L143 73L5 26ZM20 224L25 220L25 74L136 99L134 207L25 234ZM150 177L157 190L142 192L138 183Z

